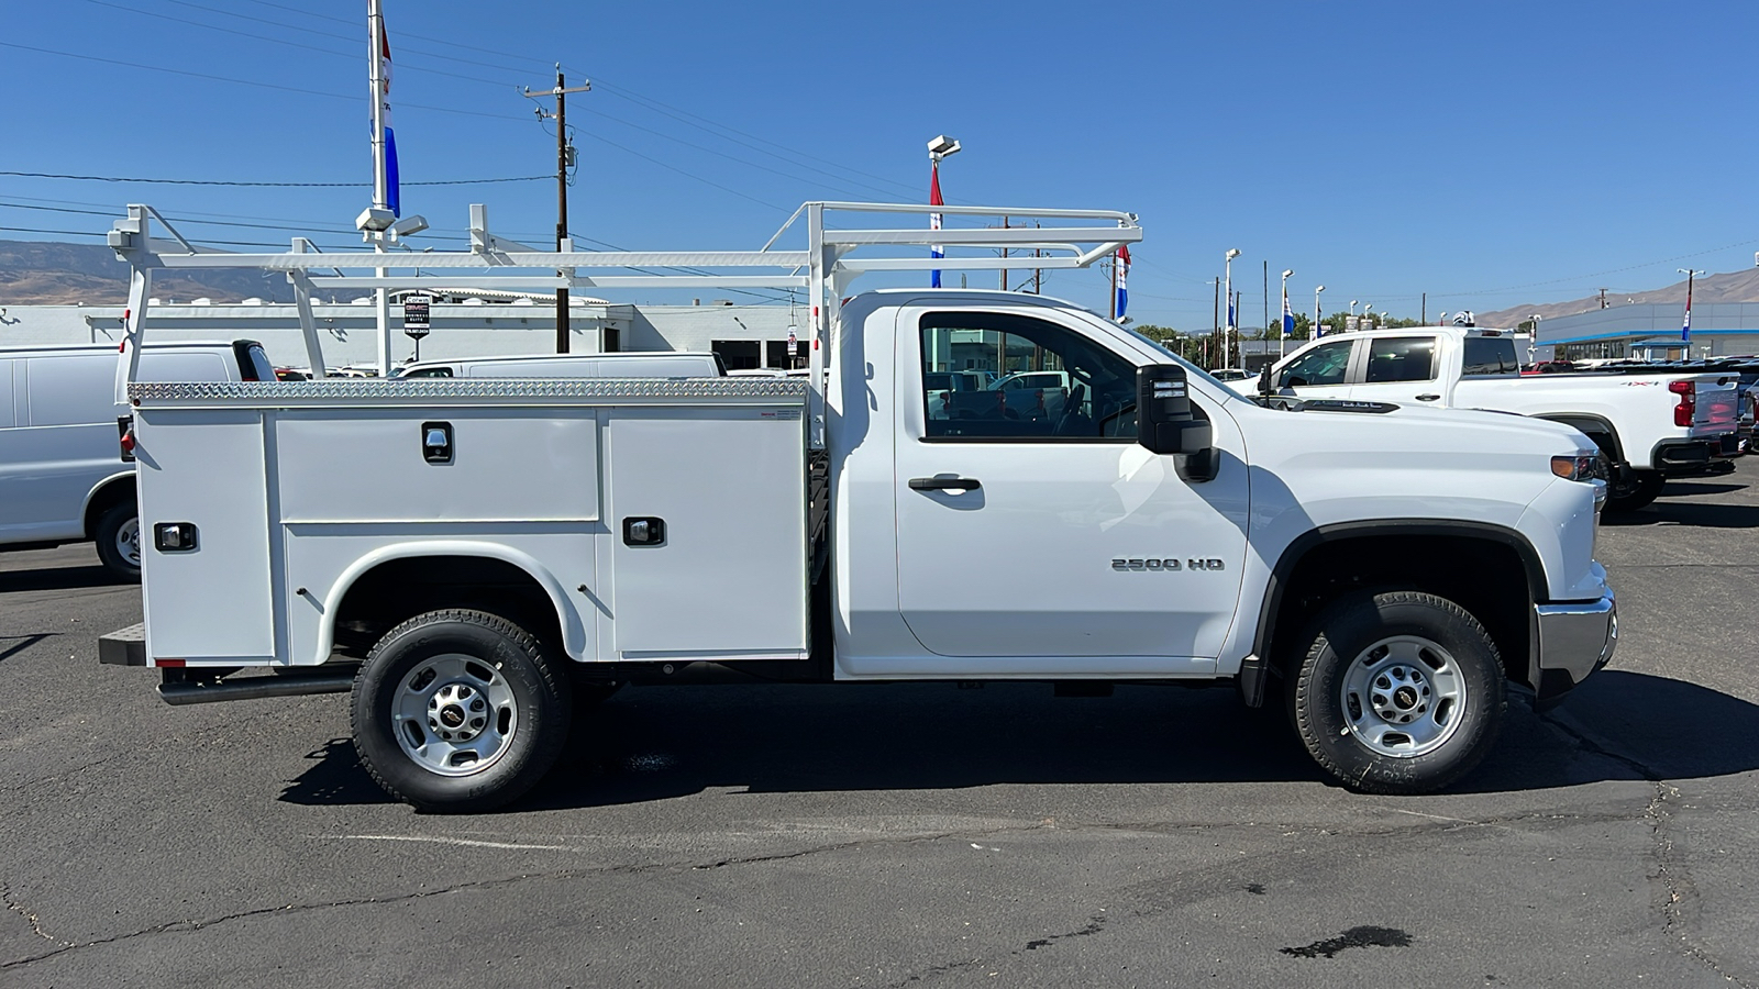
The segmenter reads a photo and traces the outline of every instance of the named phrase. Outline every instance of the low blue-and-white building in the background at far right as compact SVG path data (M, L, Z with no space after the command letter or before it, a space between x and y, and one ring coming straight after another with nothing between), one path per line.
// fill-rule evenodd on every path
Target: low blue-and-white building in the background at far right
M1534 345L1560 361L1587 357L1731 357L1759 354L1759 303L1701 303L1692 306L1692 341L1680 340L1685 306L1645 303L1588 310L1539 320Z

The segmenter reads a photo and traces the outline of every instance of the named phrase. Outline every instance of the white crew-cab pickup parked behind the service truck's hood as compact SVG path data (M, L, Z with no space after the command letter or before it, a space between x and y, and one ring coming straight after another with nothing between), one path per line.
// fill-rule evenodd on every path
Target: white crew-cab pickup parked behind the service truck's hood
M1692 477L1740 454L1740 375L1522 377L1514 334L1416 326L1326 336L1266 368L1259 391L1514 412L1581 429L1606 454L1608 510L1641 509L1669 477Z

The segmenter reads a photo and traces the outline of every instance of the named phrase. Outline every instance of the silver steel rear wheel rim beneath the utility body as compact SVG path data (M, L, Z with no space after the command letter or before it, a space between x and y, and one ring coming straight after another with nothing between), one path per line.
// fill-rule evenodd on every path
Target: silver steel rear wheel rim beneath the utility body
M403 755L440 776L484 773L512 746L519 702L496 663L443 653L415 663L390 702Z

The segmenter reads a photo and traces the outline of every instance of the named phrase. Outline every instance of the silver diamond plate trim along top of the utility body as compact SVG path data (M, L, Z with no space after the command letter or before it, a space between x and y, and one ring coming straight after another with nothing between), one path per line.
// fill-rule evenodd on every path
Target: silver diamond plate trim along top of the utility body
M424 399L424 398L559 398L559 399L668 399L737 398L804 403L807 384L799 378L547 378L547 380L378 380L320 382L135 382L128 399L141 401L313 401L313 399Z

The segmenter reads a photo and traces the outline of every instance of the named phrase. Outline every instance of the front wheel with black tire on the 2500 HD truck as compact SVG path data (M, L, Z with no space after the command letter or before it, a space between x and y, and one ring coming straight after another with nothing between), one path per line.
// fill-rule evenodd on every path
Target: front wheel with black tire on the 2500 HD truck
M1495 642L1460 605L1425 593L1360 595L1328 607L1286 678L1309 755L1369 794L1425 794L1467 774L1506 711Z

